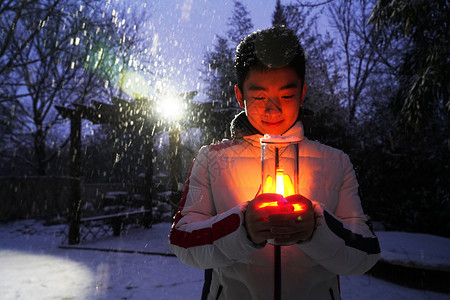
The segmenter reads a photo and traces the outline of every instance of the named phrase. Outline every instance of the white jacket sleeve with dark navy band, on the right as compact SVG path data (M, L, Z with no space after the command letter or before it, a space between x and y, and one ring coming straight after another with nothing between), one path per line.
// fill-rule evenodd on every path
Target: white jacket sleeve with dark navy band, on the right
M316 230L311 240L298 247L336 274L359 275L375 265L380 246L363 213L353 166L348 156L342 155L343 181L337 208L333 214L316 203Z

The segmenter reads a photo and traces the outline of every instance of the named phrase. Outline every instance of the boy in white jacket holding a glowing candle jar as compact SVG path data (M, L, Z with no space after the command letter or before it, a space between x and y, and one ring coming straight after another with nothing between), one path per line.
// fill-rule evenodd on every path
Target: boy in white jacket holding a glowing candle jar
M340 299L338 274L366 272L380 248L348 156L303 135L305 57L298 38L285 27L252 33L237 48L235 69L236 98L245 111L232 121L231 140L197 154L171 250L187 265L212 269L204 289L209 299L273 299L277 247L281 299ZM294 196L306 207L301 221L258 209L283 198L259 193L264 134L302 140L302 195ZM267 243L272 239L290 246Z

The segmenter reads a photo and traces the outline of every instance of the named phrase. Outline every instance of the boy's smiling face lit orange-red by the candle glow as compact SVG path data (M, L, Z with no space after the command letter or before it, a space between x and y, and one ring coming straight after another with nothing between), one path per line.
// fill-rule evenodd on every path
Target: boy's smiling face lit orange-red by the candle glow
M290 67L250 71L243 90L235 87L239 105L253 127L272 135L281 135L294 124L305 92L306 85Z

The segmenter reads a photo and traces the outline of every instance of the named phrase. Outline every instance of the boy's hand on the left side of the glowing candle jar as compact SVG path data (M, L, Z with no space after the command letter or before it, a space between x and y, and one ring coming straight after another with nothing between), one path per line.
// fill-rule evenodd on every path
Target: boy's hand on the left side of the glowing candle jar
M263 203L285 201L283 196L278 194L260 194L249 202L245 212L245 227L250 240L255 244L263 244L268 239L287 238L286 234L273 234L268 222L269 215L292 211L289 205L286 207L261 207Z

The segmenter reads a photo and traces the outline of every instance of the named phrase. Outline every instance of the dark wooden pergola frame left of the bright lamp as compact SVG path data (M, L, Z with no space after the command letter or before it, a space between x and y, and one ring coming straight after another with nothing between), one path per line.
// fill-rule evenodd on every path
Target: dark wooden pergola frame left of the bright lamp
M63 118L70 119L70 171L71 198L69 199L69 244L80 242L80 207L81 207L81 119L91 121L93 124L111 124L113 126L126 127L129 124L143 128L145 134L144 145L144 200L146 210L150 213L144 218L144 224L152 223L152 158L153 158L153 134L156 127L155 117L149 99L136 99L126 101L112 98L112 103L107 104L92 101L91 105L72 103L72 107L56 106L55 108Z

